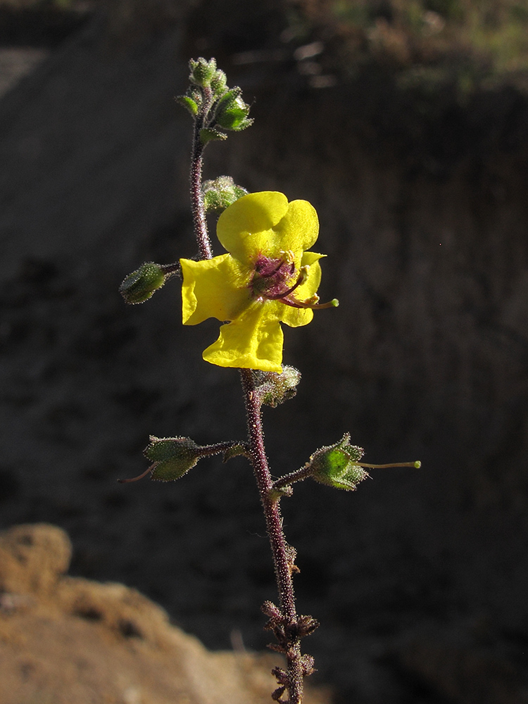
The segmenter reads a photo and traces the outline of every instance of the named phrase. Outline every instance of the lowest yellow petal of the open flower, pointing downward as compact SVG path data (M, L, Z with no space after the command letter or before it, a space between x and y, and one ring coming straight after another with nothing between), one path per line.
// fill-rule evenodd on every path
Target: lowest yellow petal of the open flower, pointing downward
M220 367L282 372L284 336L274 313L275 306L268 303L251 306L220 327L220 337L203 352L203 359Z

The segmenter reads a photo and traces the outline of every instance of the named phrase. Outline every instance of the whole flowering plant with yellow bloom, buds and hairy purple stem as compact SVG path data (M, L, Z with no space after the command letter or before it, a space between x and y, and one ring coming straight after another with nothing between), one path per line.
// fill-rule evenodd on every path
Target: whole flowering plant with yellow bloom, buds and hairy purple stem
M199 58L189 64L187 93L177 101L194 119L191 148L191 210L198 254L177 263L143 264L125 278L120 292L127 303L143 303L170 278L182 279L182 323L198 325L217 318L220 334L204 351L203 360L220 367L236 367L241 377L247 415L247 438L213 445L199 445L187 437L151 436L144 454L151 465L143 474L169 482L187 474L199 459L222 454L226 462L245 455L253 467L270 538L278 605L266 601L265 628L282 653L285 666L275 667L277 689L271 698L283 704L301 704L303 678L314 671L313 658L301 653L301 640L318 622L299 615L293 576L296 552L286 541L279 503L291 496L293 484L315 479L335 489L354 491L368 477L371 467L420 467L419 462L367 465L363 449L350 444L347 433L336 443L315 451L301 469L272 479L265 453L262 406L275 407L296 394L301 378L294 367L283 365L282 325L301 327L314 311L338 306L337 299L320 303L320 262L324 254L313 251L318 241L318 215L308 201L289 201L278 191L248 193L231 177L203 182L203 151L210 142L227 139L251 125L250 106L241 89L227 87L227 78L215 59ZM219 213L216 234L225 253L213 256L206 213ZM318 313L319 315L319 313ZM326 310L325 315L332 315ZM236 498L234 498L236 501Z

